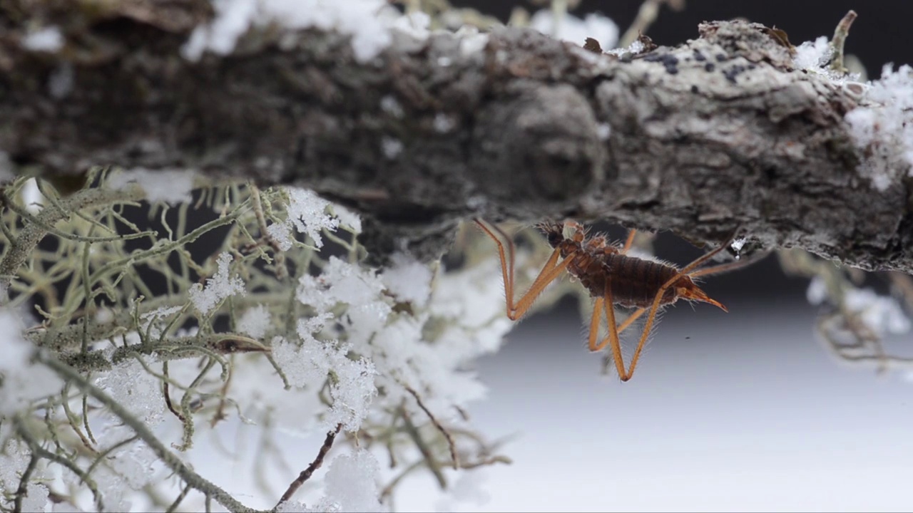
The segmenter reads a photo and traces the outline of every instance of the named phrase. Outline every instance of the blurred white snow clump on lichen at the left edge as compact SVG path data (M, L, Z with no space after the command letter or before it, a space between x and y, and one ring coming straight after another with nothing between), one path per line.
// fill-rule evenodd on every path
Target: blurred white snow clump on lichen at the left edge
M43 365L32 364L35 347L22 336L15 313L0 309L0 418L15 414L29 403L58 393L63 386L58 375Z

